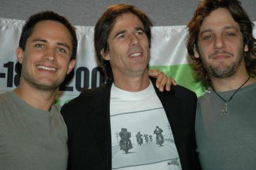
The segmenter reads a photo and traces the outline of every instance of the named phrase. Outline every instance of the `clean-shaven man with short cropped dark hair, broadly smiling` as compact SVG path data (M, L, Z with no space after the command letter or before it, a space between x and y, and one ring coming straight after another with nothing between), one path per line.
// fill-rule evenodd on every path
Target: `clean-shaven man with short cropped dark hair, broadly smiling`
M0 169L66 169L68 134L53 103L75 66L77 43L75 28L57 13L26 21L16 50L21 84L0 94Z

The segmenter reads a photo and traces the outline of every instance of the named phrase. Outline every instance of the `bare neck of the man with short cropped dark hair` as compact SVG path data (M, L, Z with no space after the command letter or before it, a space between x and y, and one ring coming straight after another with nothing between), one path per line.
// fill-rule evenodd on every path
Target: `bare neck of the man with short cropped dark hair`
M31 105L32 107L40 110L49 111L50 107L55 101L56 93L55 90L40 90L32 87L29 84L22 83L17 87L14 92L22 98L23 101Z

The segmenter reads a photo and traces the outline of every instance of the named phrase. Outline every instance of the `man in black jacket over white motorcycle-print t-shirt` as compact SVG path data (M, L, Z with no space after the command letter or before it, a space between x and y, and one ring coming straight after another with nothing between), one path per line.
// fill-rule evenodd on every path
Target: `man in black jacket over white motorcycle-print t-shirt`
M148 71L151 26L145 13L123 4L110 6L97 21L96 55L109 80L62 107L68 169L197 169L197 97L181 86L163 93L154 86ZM127 154L116 147L120 128L153 134L156 125L173 135L174 142L134 144ZM131 140L136 143L134 135Z

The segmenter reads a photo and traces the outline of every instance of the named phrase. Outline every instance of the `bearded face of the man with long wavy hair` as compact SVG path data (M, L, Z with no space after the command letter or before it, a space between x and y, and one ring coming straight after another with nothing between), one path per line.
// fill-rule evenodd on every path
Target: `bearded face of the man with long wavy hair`
M195 56L201 57L210 77L230 77L238 69L245 69L244 52L247 51L240 26L227 9L215 9L204 18Z

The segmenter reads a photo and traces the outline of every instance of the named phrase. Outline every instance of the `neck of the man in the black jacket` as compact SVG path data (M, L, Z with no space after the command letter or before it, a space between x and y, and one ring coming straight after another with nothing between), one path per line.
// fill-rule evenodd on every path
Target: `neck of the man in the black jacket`
M146 89L149 84L149 73L146 70L143 75L140 76L123 76L114 75L114 85L119 89L126 91L142 91Z

